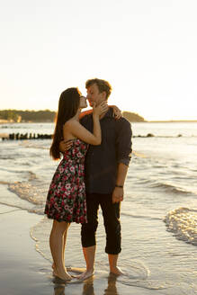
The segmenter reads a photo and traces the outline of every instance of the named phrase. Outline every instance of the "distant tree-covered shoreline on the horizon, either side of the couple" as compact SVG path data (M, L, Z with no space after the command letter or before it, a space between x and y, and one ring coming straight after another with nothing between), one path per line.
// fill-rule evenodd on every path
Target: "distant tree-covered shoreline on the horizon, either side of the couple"
M145 121L143 117L135 112L122 112L122 116L131 122ZM0 110L0 120L10 122L53 122L56 112L44 111L18 111Z

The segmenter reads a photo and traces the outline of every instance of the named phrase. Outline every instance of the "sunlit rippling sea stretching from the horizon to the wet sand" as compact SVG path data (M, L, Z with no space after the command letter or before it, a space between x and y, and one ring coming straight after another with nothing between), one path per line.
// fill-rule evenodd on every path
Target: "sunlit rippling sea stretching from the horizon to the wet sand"
M125 275L117 282L141 294L197 294L197 122L135 122L131 128L133 152L121 203L119 266ZM53 123L0 125L0 134L53 130ZM0 139L0 204L40 215L30 235L49 262L52 221L43 210L58 165L49 156L50 144ZM96 238L95 269L102 277L109 269L101 210ZM68 230L66 265L85 267L78 224Z

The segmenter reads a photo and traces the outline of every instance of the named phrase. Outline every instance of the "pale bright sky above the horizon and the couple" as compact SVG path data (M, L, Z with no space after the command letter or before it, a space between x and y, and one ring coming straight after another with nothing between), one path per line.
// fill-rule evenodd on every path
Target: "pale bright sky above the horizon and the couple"
M196 0L0 0L0 110L57 111L98 77L121 111L197 120L196 15Z

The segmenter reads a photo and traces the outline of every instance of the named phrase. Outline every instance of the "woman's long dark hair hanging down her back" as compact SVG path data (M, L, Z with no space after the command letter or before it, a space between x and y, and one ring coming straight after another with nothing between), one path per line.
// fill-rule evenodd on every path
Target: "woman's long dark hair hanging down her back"
M58 114L56 120L56 127L53 134L53 141L49 149L50 156L54 160L60 158L59 142L63 139L63 126L69 119L76 115L79 108L81 93L78 88L67 88L63 91L58 100Z

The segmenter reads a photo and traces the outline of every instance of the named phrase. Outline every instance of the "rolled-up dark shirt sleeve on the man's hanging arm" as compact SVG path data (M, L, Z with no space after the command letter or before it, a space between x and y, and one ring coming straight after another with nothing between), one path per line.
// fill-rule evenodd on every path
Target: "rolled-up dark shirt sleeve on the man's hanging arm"
M116 129L116 152L118 163L130 165L132 153L132 130L130 122L122 118L117 121Z

